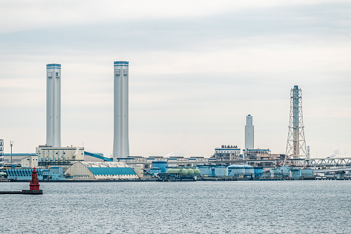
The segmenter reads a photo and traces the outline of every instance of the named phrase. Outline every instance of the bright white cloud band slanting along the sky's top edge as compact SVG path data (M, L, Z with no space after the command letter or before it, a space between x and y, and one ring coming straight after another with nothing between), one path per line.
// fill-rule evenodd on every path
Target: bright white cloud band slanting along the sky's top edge
M1 32L17 32L72 24L194 18L248 8L343 2L347 1L5 1L0 3L0 29Z

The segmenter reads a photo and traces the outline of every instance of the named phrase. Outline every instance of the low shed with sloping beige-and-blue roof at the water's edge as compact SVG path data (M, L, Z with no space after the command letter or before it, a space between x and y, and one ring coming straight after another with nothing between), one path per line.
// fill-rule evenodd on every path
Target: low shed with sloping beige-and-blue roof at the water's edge
M72 179L138 179L137 173L123 162L76 162L65 174Z

